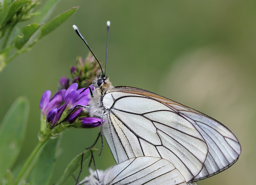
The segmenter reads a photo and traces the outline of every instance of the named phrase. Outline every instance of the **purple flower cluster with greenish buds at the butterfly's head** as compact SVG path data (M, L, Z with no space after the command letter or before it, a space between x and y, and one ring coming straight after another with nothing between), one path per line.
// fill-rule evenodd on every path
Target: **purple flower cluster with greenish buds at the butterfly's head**
M101 124L98 117L88 117L83 108L88 106L90 89L93 89L92 80L99 73L97 62L88 55L86 60L78 57L76 67L71 67L72 79L62 77L60 90L51 98L51 92L45 91L40 101L42 120L48 122L44 128L53 128L56 125L69 122L69 125L91 128ZM73 84L69 85L70 82ZM85 88L85 86L87 86ZM79 119L78 119L79 117ZM102 120L105 121L104 119Z

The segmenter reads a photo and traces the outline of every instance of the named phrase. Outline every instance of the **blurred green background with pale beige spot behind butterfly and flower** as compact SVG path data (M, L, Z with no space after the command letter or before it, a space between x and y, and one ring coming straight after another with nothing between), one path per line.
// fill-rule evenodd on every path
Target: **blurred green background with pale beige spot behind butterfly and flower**
M239 160L199 185L256 182L256 1L62 0L54 16L73 6L80 6L74 16L0 73L0 120L18 96L30 100L19 162L38 142L42 93L55 93L60 77L70 77L76 56L88 54L72 25L104 62L110 20L106 72L114 86L142 88L193 107L224 123L239 139ZM98 131L64 133L52 183ZM114 164L106 142L102 156L95 158L98 169Z

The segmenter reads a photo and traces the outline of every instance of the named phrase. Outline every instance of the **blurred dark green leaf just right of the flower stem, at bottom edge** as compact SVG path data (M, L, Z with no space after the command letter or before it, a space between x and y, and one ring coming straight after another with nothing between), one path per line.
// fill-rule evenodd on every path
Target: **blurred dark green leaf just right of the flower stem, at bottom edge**
M55 165L56 151L60 146L61 137L50 139L42 149L35 168L31 174L30 184L48 185Z

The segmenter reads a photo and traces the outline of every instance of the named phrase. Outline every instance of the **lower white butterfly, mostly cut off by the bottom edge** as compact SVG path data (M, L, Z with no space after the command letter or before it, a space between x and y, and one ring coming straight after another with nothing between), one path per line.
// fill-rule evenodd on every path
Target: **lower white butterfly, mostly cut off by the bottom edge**
M106 171L97 170L98 175L89 171L78 185L189 185L172 163L158 157L131 158Z

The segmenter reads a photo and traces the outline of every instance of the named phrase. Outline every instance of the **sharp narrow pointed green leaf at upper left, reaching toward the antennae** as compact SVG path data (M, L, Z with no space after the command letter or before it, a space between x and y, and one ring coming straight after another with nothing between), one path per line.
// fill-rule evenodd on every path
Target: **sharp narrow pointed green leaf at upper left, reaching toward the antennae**
M49 34L50 32L52 32L53 30L55 30L56 28L58 28L58 26L60 26L63 22L65 22L72 14L74 14L74 12L76 12L76 10L78 9L77 7L73 7L70 10L63 12L62 14L56 16L55 18L53 18L50 22L48 22L47 24L44 24L41 28L41 35L38 38L38 40L42 39L44 36L46 36L47 34Z

